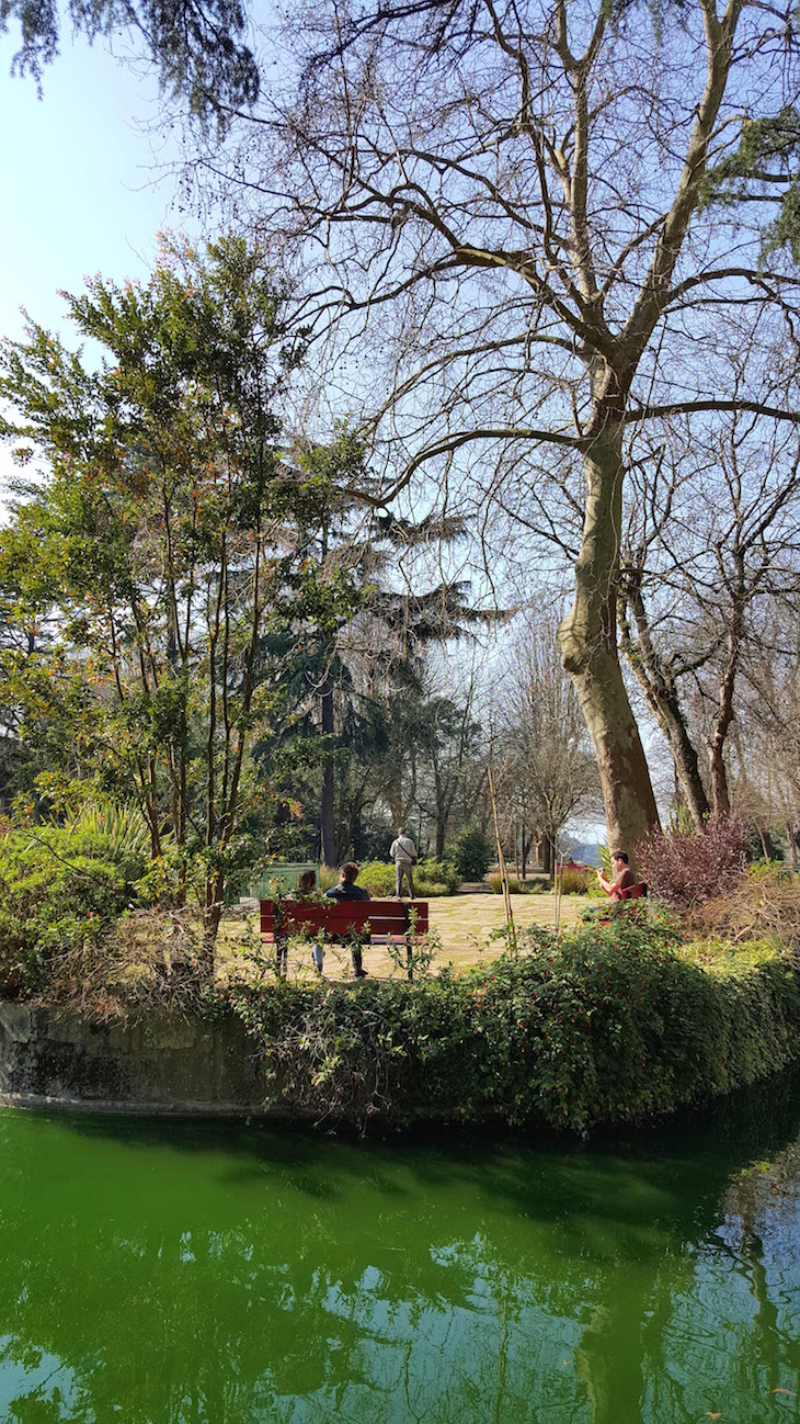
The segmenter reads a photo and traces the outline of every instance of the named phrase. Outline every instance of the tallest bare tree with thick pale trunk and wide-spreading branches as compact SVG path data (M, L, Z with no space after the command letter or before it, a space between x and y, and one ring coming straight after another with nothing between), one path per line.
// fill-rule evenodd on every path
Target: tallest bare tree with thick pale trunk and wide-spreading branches
M632 844L658 812L618 656L623 439L666 414L799 419L793 372L752 396L717 366L726 313L790 328L799 279L762 261L763 202L752 226L703 208L712 167L791 97L791 23L754 0L658 24L605 0L326 0L292 26L296 97L282 74L206 175L241 178L286 252L319 255L306 313L342 399L372 402L376 497L438 470L461 510L495 497L572 560L562 659L609 836Z

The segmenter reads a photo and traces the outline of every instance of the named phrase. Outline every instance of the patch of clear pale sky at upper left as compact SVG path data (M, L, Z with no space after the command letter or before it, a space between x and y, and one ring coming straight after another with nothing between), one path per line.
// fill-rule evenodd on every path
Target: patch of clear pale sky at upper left
M71 43L34 80L10 75L14 37L0 36L0 336L23 336L24 308L77 342L58 290L87 275L147 278L157 234L182 229L171 131L158 124L158 87L104 44ZM13 466L0 447L0 508Z

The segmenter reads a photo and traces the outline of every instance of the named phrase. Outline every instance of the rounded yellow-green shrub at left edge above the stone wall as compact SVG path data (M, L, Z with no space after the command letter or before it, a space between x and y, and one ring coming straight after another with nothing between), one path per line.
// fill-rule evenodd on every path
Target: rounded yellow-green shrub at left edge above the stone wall
M37 826L0 837L0 997L44 990L53 956L100 943L145 860L105 832Z

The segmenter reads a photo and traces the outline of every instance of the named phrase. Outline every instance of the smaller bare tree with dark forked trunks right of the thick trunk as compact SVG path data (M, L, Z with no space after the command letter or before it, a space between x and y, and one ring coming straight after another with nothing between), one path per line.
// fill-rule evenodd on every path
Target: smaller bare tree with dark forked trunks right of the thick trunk
M723 431L672 429L641 454L623 538L621 644L700 826L709 812L730 810L726 752L760 609L796 582L800 450L791 427L762 429L735 413Z

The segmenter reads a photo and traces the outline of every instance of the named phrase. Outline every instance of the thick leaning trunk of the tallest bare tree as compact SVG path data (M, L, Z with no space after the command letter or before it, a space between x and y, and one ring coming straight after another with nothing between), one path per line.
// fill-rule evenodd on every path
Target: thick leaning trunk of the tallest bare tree
M631 711L616 651L619 531L622 528L621 429L608 422L585 457L586 511L575 565L575 602L558 641L592 738L614 850L633 849L659 824L651 775Z

